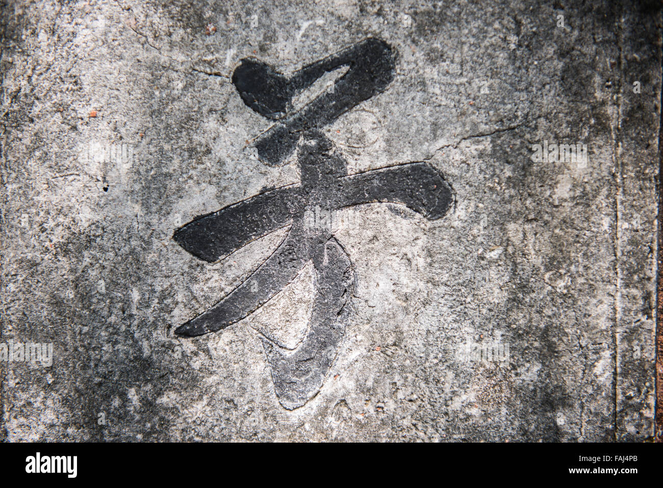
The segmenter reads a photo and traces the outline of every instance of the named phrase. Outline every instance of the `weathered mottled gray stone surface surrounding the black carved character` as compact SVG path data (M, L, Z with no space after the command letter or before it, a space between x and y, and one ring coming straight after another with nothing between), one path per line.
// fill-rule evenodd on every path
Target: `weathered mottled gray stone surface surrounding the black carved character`
M0 342L53 343L53 364L0 362L0 438L652 438L660 6L570 4L9 1ZM231 84L239 60L291 73L369 36L396 78L326 134L351 172L429 162L455 205L345 211L353 312L318 395L286 410L261 338L306 334L312 269L179 338L285 231L214 264L172 235L299 180L295 156L252 151L271 122ZM543 141L589 160L533 162ZM498 342L506 361L459 354Z

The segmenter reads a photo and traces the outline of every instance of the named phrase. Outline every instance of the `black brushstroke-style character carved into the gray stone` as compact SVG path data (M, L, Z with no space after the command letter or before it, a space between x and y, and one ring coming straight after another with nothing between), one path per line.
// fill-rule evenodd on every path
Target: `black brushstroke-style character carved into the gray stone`
M327 72L342 67L347 67L347 72L336 80L333 91L292 111L294 95ZM288 410L302 406L320 391L345 333L355 289L353 265L347 253L331 230L305 225L306 209L318 206L339 210L391 202L428 219L438 219L453 200L450 186L426 162L347 174L345 160L320 133L358 103L384 91L394 78L394 68L391 46L375 38L305 66L290 78L255 58L244 59L233 73L233 84L246 105L276 121L258 139L258 155L263 162L278 165L297 148L301 182L199 217L174 234L186 251L213 262L290 225L284 241L247 280L175 331L190 337L235 324L265 304L312 261L316 296L306 337L292 350L263 337L276 395Z

